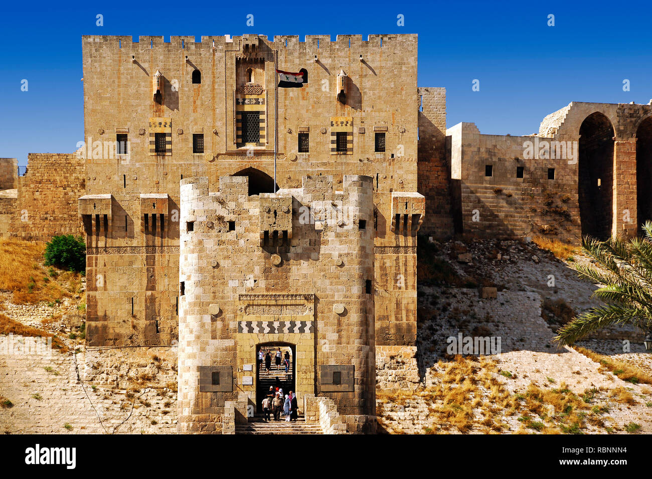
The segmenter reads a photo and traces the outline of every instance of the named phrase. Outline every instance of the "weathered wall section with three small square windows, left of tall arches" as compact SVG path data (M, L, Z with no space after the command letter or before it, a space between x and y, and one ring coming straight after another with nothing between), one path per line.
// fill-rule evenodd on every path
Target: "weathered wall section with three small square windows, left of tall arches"
M524 158L526 141L535 147L544 144L535 141L552 138L482 135L473 123L457 124L447 134L453 178L460 181L464 233L492 238L580 236L577 162ZM549 168L554 168L554 179L548 179Z

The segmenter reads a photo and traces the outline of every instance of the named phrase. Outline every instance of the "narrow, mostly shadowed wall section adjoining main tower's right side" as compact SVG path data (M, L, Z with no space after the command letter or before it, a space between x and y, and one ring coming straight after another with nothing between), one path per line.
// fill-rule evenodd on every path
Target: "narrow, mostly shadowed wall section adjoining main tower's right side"
M446 89L419 88L419 192L426 197L421 232L452 236L451 167L446 158Z

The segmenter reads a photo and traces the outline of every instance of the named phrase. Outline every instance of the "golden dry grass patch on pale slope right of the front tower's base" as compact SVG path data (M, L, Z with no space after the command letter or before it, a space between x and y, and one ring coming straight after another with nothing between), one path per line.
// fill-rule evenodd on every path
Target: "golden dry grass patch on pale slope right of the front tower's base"
M531 384L524 394L514 394L498 379L496 362L486 358L455 356L452 362L437 363L433 374L440 381L425 390L376 393L376 413L383 429L402 432L392 418L393 411L415 403L428 407L425 418L429 424L422 426L422 433L500 433L514 430L513 422L518 419L517 433L576 434L588 426L604 427L604 414L608 412L607 407L596 404L597 389L578 396L565 384L557 389ZM634 401L627 390L616 390L614 399ZM420 418L424 419L421 413ZM512 426L507 418L511 418Z

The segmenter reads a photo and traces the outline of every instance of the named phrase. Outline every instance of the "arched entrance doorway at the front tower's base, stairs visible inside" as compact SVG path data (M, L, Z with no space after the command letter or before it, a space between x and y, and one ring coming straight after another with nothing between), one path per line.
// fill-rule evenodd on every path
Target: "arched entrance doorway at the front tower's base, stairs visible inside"
M259 352L263 352L263 360L256 362L256 412L259 414L263 413L263 399L267 394L269 394L269 388L272 387L273 390L276 390L276 387L283 390L283 394L286 395L290 391L297 391L297 383L295 381L296 377L296 357L297 357L297 348L291 343L283 342L270 342L270 343L259 343L256 345L256 358L259 358ZM278 351L281 353L281 364L276 364L276 355ZM271 356L270 368L267 370L265 364L265 356L269 353ZM284 358L288 358L289 366L288 371L283 364Z

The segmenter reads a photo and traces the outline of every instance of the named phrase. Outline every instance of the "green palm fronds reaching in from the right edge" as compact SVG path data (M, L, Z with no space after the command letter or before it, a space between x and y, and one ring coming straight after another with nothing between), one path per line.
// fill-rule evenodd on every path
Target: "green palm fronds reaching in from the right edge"
M578 276L597 285L591 297L606 304L574 317L557 331L554 341L569 345L611 325L652 326L652 222L643 225L644 237L629 241L582 239L582 251L594 265L575 265Z

